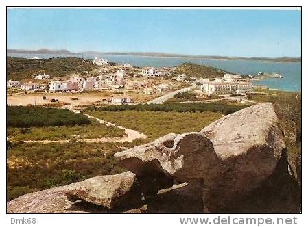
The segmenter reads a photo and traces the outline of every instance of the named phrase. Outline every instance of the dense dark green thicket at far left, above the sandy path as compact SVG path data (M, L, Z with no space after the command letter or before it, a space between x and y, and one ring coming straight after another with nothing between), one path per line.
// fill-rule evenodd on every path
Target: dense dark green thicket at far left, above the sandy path
M67 109L38 106L8 106L7 126L25 128L31 126L75 126L90 124L88 117Z

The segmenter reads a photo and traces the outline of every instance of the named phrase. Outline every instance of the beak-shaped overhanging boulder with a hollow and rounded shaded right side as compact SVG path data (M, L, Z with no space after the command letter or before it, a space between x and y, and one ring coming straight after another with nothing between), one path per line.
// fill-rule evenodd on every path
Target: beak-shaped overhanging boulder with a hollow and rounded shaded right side
M137 176L165 176L180 182L200 180L220 162L213 144L202 133L171 133L117 152L115 157Z

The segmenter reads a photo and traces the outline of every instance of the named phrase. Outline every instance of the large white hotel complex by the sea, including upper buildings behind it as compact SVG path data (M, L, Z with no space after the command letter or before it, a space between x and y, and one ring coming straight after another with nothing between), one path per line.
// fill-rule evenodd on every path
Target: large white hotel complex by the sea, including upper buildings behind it
M239 75L225 74L222 79L207 81L200 85L205 94L243 94L252 92L252 84Z

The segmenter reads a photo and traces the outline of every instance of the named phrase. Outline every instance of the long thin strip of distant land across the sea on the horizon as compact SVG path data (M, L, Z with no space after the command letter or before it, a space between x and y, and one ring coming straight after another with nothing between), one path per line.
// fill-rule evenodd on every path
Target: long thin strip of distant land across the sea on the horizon
M134 55L143 57L187 57L187 58L204 58L218 60L259 60L268 62L301 62L301 57L226 57L211 55L184 55L175 53L159 53L159 52L99 52L99 51L83 51L71 52L65 49L49 50L25 50L25 49L8 49L7 53L23 53L23 54L63 54L63 55Z

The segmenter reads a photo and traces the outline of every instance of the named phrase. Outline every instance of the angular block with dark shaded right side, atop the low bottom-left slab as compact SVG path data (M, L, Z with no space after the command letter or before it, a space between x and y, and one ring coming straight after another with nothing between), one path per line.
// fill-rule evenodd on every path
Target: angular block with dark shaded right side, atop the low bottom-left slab
M172 181L167 178L138 178L132 172L116 175L97 176L69 185L66 195L69 200L82 199L86 202L108 209L119 206L139 204L145 196L157 193L159 189L171 187Z

